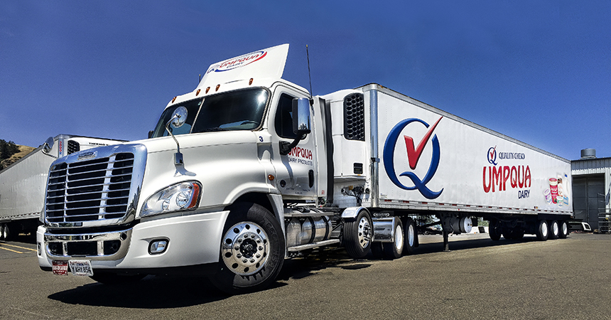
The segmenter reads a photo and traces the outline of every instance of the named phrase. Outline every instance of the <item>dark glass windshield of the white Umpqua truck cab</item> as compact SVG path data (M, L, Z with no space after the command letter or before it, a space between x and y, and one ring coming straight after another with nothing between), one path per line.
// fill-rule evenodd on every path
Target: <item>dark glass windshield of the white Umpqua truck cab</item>
M269 92L263 88L237 90L201 99L189 100L166 108L161 114L151 137L168 135L166 123L176 108L187 109L187 120L182 127L170 124L172 134L226 130L252 130L263 121Z

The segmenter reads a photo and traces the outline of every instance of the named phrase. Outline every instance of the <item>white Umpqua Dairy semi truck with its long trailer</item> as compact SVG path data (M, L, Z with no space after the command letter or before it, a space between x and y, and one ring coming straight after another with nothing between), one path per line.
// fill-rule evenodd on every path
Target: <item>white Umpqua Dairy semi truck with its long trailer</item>
M225 292L274 282L286 257L354 258L418 246L417 217L448 234L566 238L569 161L377 84L311 96L281 79L288 44L210 65L149 139L50 168L38 261L131 282L207 274Z

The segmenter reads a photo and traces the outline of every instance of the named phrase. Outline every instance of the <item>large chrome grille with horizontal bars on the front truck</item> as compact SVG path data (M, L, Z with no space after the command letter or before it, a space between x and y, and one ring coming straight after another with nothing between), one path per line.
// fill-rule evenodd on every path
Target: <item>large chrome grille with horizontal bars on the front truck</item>
M77 223L123 218L128 212L134 154L60 162L50 168L45 219Z

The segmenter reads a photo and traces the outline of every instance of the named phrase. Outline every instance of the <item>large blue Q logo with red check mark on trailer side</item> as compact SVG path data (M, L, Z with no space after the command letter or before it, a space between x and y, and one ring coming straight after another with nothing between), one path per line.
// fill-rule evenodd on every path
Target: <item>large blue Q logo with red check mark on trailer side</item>
M437 122L435 122L435 124L433 124L433 126L428 129L428 132L426 132L424 137L421 139L417 148L414 148L412 137L404 136L405 145L407 148L407 159L409 161L409 167L412 170L416 169L416 164L418 164L418 160L420 159L420 156L422 155L424 146L428 142L428 139L431 139L431 135L433 134L433 131L437 127L437 124L439 123L441 118L439 118ZM416 174L414 174L412 171L405 171L404 173L399 174L399 176L406 176L410 178L411 181L413 182L413 186L411 187L404 186L404 184L401 183L401 181L399 181L399 178L397 178L396 172L394 170L394 149L396 146L397 139L399 139L399 134L401 134L401 131L403 131L403 129L408 124L411 124L412 122L420 122L421 124L424 124L424 126L428 128L428 124L426 122L423 122L421 119L416 119L416 118L404 119L403 121L396 124L396 126L394 126L394 128L391 129L388 137L386 137L386 142L384 143L384 155L383 155L384 169L386 169L386 174L388 175L392 183L394 183L399 188L402 188L404 190L418 189L418 191L420 191L420 193L423 196L425 196L426 198L434 199L440 196L441 192L443 191L443 188L441 188L441 190L437 192L431 191L431 189L429 189L426 186L426 183L428 183L428 181L431 181L431 178L433 178L433 176L437 172L437 167L439 166L439 153L440 152L439 152L439 141L437 139L437 135L434 135L433 138L431 139L431 142L433 143L433 157L431 159L431 164L428 167L428 172L426 173L424 178L422 179L418 178L418 176L416 176Z

